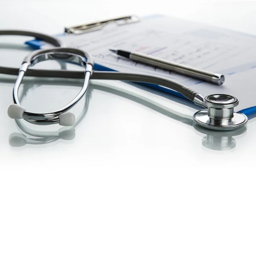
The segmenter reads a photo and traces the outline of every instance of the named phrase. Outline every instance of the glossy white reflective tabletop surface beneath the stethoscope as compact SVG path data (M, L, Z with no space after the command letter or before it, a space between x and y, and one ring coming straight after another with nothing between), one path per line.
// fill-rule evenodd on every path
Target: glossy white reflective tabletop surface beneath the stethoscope
M54 34L95 17L158 12L256 35L254 2L167 2L135 10L131 1L119 12L115 1L9 1L0 27ZM19 67L27 38L0 39L0 65ZM7 115L14 82L0 75L0 255L255 255L256 119L216 137L192 127L188 102L93 81L75 128L24 123L27 134ZM24 82L23 107L35 112L63 106L82 83Z

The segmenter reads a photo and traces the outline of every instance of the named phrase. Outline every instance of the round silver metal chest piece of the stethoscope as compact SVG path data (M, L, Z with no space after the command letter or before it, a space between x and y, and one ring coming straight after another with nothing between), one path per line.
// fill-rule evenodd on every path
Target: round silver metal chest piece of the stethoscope
M244 126L248 119L243 113L235 113L239 100L227 94L211 94L204 98L208 109L198 111L193 119L198 125L214 130L232 130Z

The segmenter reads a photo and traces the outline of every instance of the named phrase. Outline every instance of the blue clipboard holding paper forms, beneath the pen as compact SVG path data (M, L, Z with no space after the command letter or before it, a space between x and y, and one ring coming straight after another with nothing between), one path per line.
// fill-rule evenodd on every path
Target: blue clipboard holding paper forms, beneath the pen
M203 95L227 93L237 96L240 100L240 109L236 109L236 111L241 111L246 115L256 113L254 102L256 88L251 82L256 75L253 73L256 70L253 70L256 67L256 52L254 50L256 37L252 35L163 15L152 15L142 19L131 15L65 27L64 33L57 36L64 42L67 41L69 47L81 49L84 47L85 50L91 52L95 58L95 70L146 73L170 79L181 79L176 81L192 87ZM97 40L98 37L99 40ZM180 40L176 46L175 39ZM87 44L88 41L90 44ZM148 41L152 45L147 48L145 46L148 46ZM154 67L145 67L146 65L113 56L108 52L110 46L120 49L119 46L121 45L122 48L124 45L123 49L126 50L148 51L144 53L157 54L157 57L160 58L169 58L172 57L171 48L176 47L173 54L175 54L175 50L180 50L180 52L172 61L178 62L182 61L183 55L185 55L185 61L189 59L191 52L186 51L185 47L189 46L189 43L192 44L190 47L192 57L198 57L197 61L201 60L201 62L198 61L201 67L198 68L225 75L226 81L221 87L169 71L156 70ZM38 40L27 41L26 44L36 49L47 47L44 42ZM106 44L105 48L104 44ZM107 47L108 45L109 47ZM127 49L127 47L134 48ZM207 54L209 57L206 57ZM193 63L187 65L197 67ZM248 88L241 87L241 83L246 84ZM184 98L180 93L157 84L140 84Z

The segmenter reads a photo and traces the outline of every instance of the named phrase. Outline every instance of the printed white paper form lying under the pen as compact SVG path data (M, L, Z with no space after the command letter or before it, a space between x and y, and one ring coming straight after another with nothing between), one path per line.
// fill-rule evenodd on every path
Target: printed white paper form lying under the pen
M256 91L250 90L251 100L248 101L246 88L236 82L237 76L243 76L243 81L246 81L247 72L250 72L250 77L256 74L256 69L251 70L256 66L256 37L251 35L173 17L157 16L142 19L140 23L125 26L111 24L99 31L60 35L59 38L67 47L90 52L97 64L110 69L164 76L192 87L203 95L215 92L233 94L240 100L239 110L256 105ZM109 49L143 52L212 73L221 73L225 75L226 81L221 87L216 86L131 61L111 53ZM233 76L233 79L229 76ZM232 84L229 84L231 81Z

